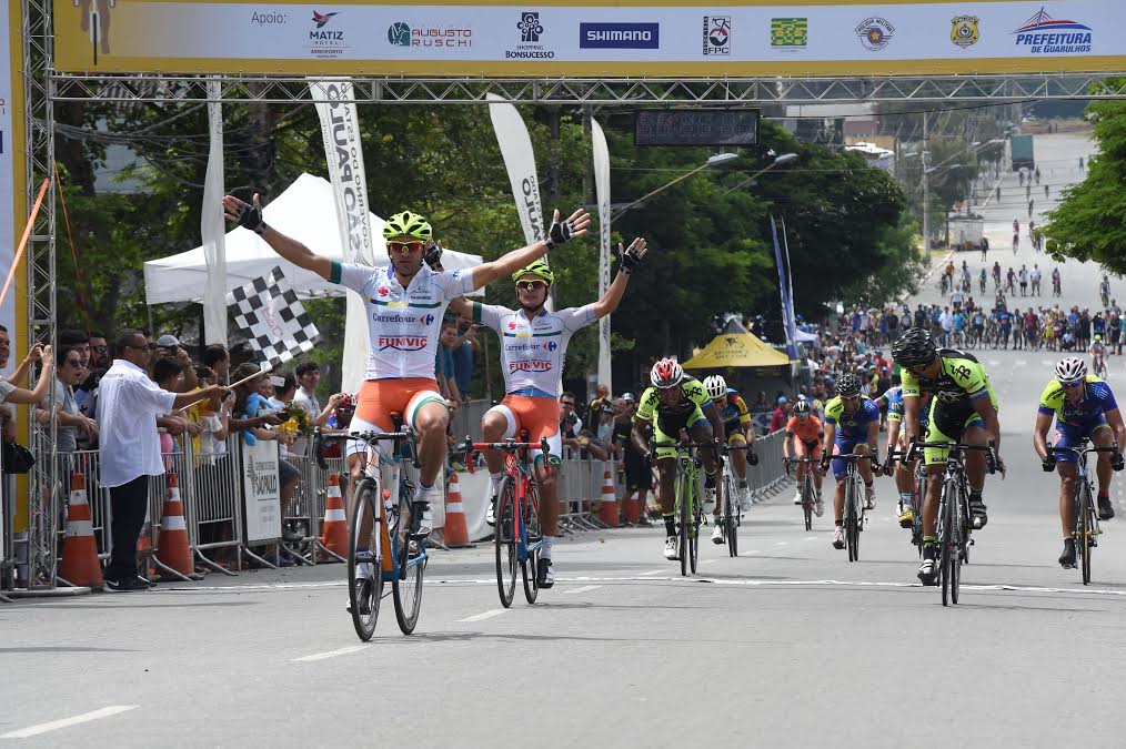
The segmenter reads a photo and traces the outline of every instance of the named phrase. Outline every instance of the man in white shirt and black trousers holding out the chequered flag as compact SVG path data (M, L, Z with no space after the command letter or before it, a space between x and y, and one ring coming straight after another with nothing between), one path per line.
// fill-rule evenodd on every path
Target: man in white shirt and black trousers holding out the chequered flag
M149 581L137 576L136 548L149 506L149 477L164 472L157 417L204 398L221 399L227 390L217 385L195 392L163 390L145 372L149 348L141 331L125 330L114 343L116 359L99 385L97 422L101 485L109 489L113 511L114 549L105 588L122 593L149 589Z

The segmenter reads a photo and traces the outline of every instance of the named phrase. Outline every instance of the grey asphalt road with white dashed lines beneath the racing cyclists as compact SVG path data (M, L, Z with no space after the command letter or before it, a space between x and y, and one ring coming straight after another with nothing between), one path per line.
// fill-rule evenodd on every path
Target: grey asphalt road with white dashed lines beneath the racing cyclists
M1096 295L1096 269L1065 279ZM751 512L740 558L706 543L691 579L660 531L586 533L556 547L540 603L502 611L491 547L436 553L417 633L388 599L368 644L339 565L3 605L0 740L1119 747L1126 518L1105 524L1092 585L1058 567L1057 479L1029 437L1052 357L982 360L1010 472L986 486L957 607L918 585L890 480L856 563L828 514L804 531L787 490ZM1126 512L1117 478L1114 497Z

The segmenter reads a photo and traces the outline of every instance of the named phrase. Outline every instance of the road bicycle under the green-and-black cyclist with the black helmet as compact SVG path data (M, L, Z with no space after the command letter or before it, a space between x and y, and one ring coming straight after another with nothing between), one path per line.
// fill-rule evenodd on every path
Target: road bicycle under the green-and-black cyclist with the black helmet
M992 441L988 445L963 442L912 442L908 449L911 460L919 451L938 448L947 451L946 470L942 473L942 493L938 500L938 578L942 590L942 605L958 603L962 584L962 565L969 562L972 523L969 520L969 481L966 478L965 452L985 452L985 467L990 473L997 471L997 452ZM922 461L920 461L922 462Z

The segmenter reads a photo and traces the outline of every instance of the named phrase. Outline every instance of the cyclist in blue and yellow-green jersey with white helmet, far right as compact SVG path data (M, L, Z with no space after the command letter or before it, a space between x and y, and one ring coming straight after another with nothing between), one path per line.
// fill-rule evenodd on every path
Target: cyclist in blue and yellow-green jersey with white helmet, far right
M1126 444L1126 425L1123 424L1118 404L1110 386L1087 373L1087 364L1078 357L1067 357L1056 364L1055 379L1040 394L1040 405L1036 413L1036 428L1033 432L1033 448L1043 461L1044 470L1052 471L1060 466L1060 522L1063 524L1063 553L1060 565L1064 569L1075 567L1075 477L1076 455L1048 451L1047 434L1052 418L1056 419L1055 446L1078 448L1084 439L1099 448L1108 448L1116 442ZM1115 516L1110 504L1110 471L1123 469L1120 452L1098 453L1094 469L1099 478L1099 520Z

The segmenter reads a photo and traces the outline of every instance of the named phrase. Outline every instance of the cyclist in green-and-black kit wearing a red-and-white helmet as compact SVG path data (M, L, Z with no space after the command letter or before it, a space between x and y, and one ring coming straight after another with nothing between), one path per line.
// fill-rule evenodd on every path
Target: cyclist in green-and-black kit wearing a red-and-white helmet
M650 372L652 387L646 388L641 396L637 415L634 416L632 439L638 452L650 453L649 428L652 428L653 441L656 442L656 470L660 476L658 500L661 514L664 515L664 558L676 560L677 557L677 521L676 494L673 482L677 477L677 450L673 446L680 440L680 431L687 430L689 439L697 444L713 444L713 440L724 441L723 419L720 409L707 396L704 383L694 377L685 374L685 370L672 359L662 359L653 364ZM715 473L720 468L718 452L711 448L700 448L699 457L704 461L706 482L715 484Z

